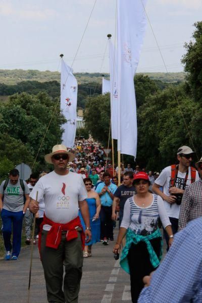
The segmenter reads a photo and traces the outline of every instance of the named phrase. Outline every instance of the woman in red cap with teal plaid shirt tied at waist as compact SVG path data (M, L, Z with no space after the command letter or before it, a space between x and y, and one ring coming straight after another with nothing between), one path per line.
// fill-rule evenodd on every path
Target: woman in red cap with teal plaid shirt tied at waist
M158 228L159 217L170 238L170 245L173 232L163 199L149 192L148 175L138 172L134 176L133 184L136 194L126 200L113 252L119 254L122 239L126 235L120 265L130 274L131 297L135 303L144 287L143 277L154 271L161 261L162 236Z

